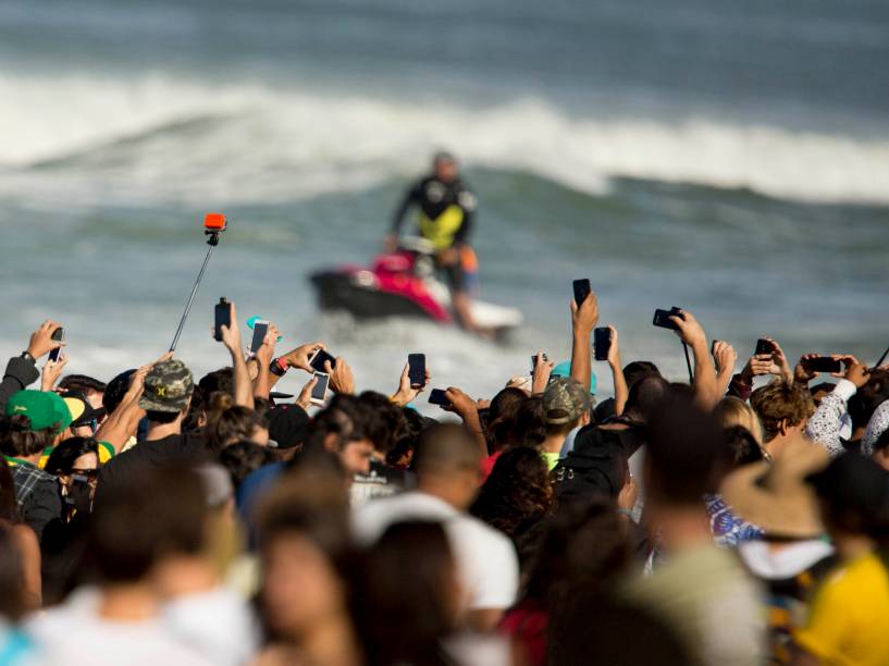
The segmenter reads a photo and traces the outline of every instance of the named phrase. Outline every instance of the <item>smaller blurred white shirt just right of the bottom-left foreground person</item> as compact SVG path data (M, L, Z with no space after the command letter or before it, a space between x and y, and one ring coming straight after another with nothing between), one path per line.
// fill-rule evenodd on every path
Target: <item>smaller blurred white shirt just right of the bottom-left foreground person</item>
M242 596L219 587L188 594L161 610L166 631L219 666L247 664L259 651L259 627Z

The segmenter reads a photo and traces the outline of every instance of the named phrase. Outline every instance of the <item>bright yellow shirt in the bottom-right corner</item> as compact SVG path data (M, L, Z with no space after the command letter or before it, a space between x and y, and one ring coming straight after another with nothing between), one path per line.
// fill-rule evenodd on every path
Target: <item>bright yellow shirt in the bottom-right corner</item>
M830 575L794 639L824 664L889 664L889 572L879 557L865 555Z

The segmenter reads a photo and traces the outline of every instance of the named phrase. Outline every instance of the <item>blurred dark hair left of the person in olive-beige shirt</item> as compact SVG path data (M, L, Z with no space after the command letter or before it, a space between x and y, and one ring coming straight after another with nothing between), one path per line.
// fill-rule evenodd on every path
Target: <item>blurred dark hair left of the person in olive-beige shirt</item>
M631 548L613 503L592 498L564 506L550 519L524 596L555 608L577 585L596 590L620 582Z

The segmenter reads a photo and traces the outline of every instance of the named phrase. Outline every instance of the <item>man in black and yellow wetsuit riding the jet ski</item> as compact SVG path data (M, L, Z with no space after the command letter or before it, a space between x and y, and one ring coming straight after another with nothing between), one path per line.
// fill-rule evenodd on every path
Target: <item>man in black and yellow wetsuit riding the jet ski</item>
M419 234L435 249L437 267L444 271L454 312L460 324L476 331L464 261L474 256L467 244L476 212L476 195L460 180L457 161L448 152L439 152L432 160L432 175L418 182L405 195L395 212L392 232L385 238L387 251L395 251L398 235L412 206L418 208Z

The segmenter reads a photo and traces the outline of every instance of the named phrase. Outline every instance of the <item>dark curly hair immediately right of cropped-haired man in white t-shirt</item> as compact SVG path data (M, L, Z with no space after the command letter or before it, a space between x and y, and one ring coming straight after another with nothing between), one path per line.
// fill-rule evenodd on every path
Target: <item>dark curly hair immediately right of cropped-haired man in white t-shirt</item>
M469 513L516 539L552 507L550 472L540 452L514 446L497 458Z

